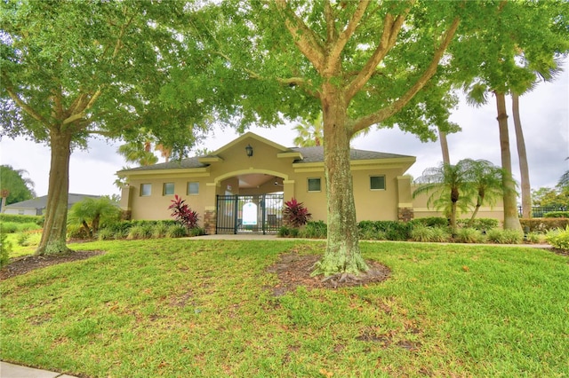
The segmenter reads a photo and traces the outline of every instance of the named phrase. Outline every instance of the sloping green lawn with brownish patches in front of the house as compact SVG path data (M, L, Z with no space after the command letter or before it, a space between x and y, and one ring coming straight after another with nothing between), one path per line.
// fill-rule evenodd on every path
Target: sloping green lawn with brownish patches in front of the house
M2 359L106 376L566 376L569 264L533 248L367 243L369 287L271 295L322 242L133 240L4 280Z

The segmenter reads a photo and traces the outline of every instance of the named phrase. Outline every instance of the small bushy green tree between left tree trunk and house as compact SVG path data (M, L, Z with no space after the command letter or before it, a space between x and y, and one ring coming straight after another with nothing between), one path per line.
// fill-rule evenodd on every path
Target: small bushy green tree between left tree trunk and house
M120 212L116 202L109 197L85 198L69 209L68 224L81 225L89 238L92 238L99 232L100 224L117 221Z

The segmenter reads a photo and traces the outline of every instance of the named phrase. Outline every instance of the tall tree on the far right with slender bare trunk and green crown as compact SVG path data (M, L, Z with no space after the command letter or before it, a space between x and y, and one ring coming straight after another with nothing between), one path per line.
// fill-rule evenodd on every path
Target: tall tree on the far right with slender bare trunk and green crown
M492 93L496 100L501 167L506 173L502 183L506 189L503 195L505 229L522 232L517 215L516 191L512 180L505 97L508 93L518 94L527 91L535 82L535 70L553 67L557 55L569 51L568 12L568 5L565 2L528 2L527 4L501 2L493 15L493 28L480 30L477 35L479 47L476 57L474 60L464 59L461 65L465 71L473 67L476 67L474 69L478 71L477 80L474 83L466 74L468 77L466 87L469 89L469 98L472 103L484 103L487 93ZM516 32L508 30L516 30ZM479 60L475 62L477 59ZM525 64L520 64L521 61L525 61ZM520 135L519 144L524 143L521 134L518 133L518 135ZM520 151L521 160L526 161L524 151ZM523 175L525 181L529 183L529 173L524 170Z

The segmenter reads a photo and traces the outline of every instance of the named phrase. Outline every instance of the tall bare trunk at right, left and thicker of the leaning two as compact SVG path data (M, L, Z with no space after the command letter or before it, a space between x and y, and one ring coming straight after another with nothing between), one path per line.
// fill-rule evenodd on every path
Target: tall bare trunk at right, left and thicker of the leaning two
M506 111L506 96L504 93L495 93L496 108L498 111L498 127L500 129L501 168L505 174L502 179L504 187L504 230L517 230L522 232L522 225L517 217L517 193L512 178L512 159L509 153L508 112Z

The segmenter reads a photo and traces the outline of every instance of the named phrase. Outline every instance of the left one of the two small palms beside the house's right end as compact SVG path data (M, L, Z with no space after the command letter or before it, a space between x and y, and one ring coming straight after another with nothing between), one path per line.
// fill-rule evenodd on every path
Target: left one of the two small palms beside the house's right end
M451 228L456 229L458 209L469 209L471 193L474 192L472 183L468 180L466 164L441 163L438 167L425 169L415 183L420 184L413 191L413 198L422 193L430 193L427 206L431 203L436 209L444 209L450 216Z

